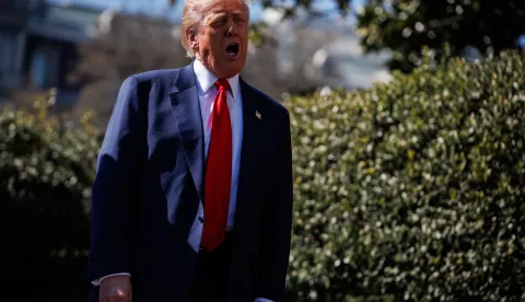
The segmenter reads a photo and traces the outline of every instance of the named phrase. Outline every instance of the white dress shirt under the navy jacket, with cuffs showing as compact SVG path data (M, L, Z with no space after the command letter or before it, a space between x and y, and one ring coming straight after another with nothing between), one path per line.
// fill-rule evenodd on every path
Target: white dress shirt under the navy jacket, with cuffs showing
M206 67L196 59L194 61L194 71L197 80L200 114L202 117L202 129L205 132L205 156L208 158L208 151L210 149L210 137L212 120L210 119L213 113L213 102L218 93L218 88L214 83L217 77L211 73ZM228 79L231 90L228 91L228 109L230 111L230 120L232 124L232 185L230 190L230 209L228 212L228 225L226 231L233 230L235 206L237 198L238 186L238 171L241 166L241 150L243 143L243 97L241 93L241 84L238 82L238 74ZM206 217L205 217L206 221ZM113 274L102 277L100 280L94 280L93 284L98 286L101 281L107 277L126 275L128 272ZM265 298L257 298L255 302L272 302Z

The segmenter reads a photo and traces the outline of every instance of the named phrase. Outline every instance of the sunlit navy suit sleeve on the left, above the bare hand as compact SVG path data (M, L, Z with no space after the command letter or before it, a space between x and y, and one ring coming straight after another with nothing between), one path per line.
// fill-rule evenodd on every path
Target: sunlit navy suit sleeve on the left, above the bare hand
M144 147L138 81L120 86L98 154L92 198L91 252L88 280L131 272L132 189Z

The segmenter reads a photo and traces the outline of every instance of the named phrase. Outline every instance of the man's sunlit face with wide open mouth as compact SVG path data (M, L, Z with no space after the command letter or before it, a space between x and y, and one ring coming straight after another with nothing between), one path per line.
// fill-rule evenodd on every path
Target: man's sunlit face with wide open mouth
M248 11L240 0L212 0L212 7L194 31L188 30L195 56L218 79L240 73L248 48Z

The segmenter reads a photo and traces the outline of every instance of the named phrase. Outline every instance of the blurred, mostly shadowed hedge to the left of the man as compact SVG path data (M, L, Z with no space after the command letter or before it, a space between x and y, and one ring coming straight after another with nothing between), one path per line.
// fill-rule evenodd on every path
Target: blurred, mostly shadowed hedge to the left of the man
M46 98L36 115L0 112L2 282L13 301L88 301L82 272L100 139L89 125L46 116Z

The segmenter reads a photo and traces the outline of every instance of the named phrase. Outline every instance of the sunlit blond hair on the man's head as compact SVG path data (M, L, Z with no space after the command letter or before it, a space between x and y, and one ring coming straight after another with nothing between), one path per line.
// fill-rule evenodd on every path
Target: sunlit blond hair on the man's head
M249 20L249 8L246 4L245 0L237 0L242 2L248 12ZM188 57L194 58L195 51L191 46L188 44L188 33L187 28L197 31L199 23L205 20L205 16L208 14L210 9L220 1L217 0L186 0L183 10L183 24L180 26L180 42L183 43L184 49Z

